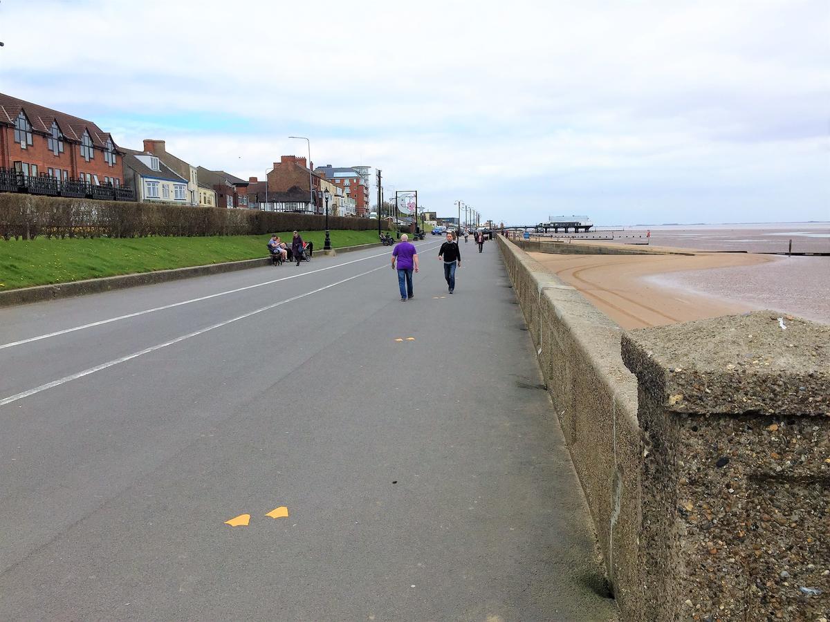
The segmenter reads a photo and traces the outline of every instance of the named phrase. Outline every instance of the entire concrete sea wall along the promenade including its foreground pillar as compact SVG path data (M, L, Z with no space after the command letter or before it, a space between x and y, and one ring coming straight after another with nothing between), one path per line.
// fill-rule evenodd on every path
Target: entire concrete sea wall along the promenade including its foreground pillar
M756 312L624 333L497 244L622 619L820 619L830 327Z

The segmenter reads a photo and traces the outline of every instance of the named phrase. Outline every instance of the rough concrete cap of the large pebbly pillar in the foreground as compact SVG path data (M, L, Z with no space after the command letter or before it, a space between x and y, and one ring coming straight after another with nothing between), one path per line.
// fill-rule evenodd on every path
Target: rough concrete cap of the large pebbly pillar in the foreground
M623 336L623 360L678 413L830 413L830 326L772 311Z

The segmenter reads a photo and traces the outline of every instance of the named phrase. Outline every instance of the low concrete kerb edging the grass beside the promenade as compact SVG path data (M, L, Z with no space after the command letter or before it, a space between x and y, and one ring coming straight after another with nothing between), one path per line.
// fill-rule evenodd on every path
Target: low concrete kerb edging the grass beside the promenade
M364 250L381 246L380 242L362 244L358 246L344 246L334 249L331 255L337 253L349 253L354 250ZM323 252L322 250L318 252ZM55 283L50 285L35 285L21 289L11 289L7 292L0 292L0 309L3 307L14 307L18 304L39 303L44 300L57 300L72 298L73 296L85 296L86 294L100 294L101 292L112 291L113 289L127 289L139 285L152 285L167 283L178 279L191 279L196 276L218 275L223 272L236 272L248 268L259 268L263 265L270 265L271 258L263 257L255 260L228 261L223 264L194 265L189 268L175 268L173 270L156 270L155 272L140 272L133 275L105 276L101 279L86 279L82 281L71 281L70 283Z

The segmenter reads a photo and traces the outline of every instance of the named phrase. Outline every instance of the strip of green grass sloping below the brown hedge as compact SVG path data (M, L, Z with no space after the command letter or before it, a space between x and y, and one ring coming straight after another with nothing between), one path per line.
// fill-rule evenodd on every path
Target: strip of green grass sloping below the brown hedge
M277 232L291 243L291 231ZM302 234L323 249L324 231ZM377 231L331 231L331 245L369 244ZM185 268L266 257L269 236L0 240L0 291L103 276Z

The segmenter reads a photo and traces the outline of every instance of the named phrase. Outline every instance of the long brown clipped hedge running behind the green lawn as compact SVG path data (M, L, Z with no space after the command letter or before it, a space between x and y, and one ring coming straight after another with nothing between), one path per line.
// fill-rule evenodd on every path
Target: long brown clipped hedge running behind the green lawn
M385 223L383 229L388 229ZM370 231L378 221L329 216L330 229ZM94 201L0 193L0 236L46 237L261 236L273 231L322 231L325 216L229 210L168 203Z

